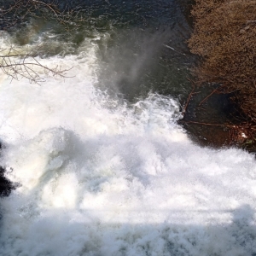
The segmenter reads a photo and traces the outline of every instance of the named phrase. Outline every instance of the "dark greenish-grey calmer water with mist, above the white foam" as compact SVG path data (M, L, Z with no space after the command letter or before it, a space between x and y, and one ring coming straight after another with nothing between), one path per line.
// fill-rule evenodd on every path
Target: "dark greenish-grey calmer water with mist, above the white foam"
M42 44L43 38L38 54L44 57L78 54L84 40L95 38L102 90L129 102L149 91L183 102L190 90L186 78L195 62L186 45L191 32L189 2L64 1L60 8L65 14L67 9L76 12L70 22L61 25L32 17L28 25L15 29L14 41Z

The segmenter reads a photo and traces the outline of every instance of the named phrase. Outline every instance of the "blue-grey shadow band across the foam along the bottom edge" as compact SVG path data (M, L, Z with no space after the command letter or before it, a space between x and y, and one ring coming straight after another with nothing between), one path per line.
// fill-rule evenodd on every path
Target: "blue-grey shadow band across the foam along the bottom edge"
M170 212L172 214L172 209ZM216 212L195 210L193 213L211 215ZM45 219L38 218L36 222L32 220L30 232L23 234L10 234L9 230L12 229L5 223L6 217L3 216L0 220L0 245L3 256L13 255L14 252L63 256L255 256L256 227L253 223L253 209L243 205L235 210L218 213L230 214L233 219L229 224L105 224L100 220L93 220L93 213L84 211L88 222L80 223L61 216L62 211L59 210L58 218L48 216ZM22 217L19 221L22 221ZM20 246L20 243L24 246Z

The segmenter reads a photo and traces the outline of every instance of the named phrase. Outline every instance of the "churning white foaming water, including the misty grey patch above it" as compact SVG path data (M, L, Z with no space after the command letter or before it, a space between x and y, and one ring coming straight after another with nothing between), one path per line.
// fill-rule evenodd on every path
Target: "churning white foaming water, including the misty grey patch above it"
M2 35L2 48L41 43L38 61L68 71L38 68L40 85L1 73L1 166L17 189L0 199L0 255L256 255L254 156L201 148L177 125L185 30L162 17Z

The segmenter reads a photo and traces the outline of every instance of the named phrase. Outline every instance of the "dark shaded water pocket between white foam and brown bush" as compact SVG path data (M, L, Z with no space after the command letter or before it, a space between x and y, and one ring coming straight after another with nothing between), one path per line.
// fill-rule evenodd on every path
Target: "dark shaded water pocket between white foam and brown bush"
M236 124L236 105L231 100L233 95L209 96L218 86L215 84L196 88L195 95L188 100L183 119L179 121L188 131L189 137L201 146L228 147L230 131L224 125ZM207 101L203 102L206 98Z

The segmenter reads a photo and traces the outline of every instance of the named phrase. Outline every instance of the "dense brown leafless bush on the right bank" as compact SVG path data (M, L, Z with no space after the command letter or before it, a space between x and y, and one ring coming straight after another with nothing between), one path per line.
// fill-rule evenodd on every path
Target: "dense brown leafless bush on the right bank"
M235 92L244 137L255 141L256 0L195 0L191 13L195 31L189 47L202 57L196 83L218 83L217 93Z

